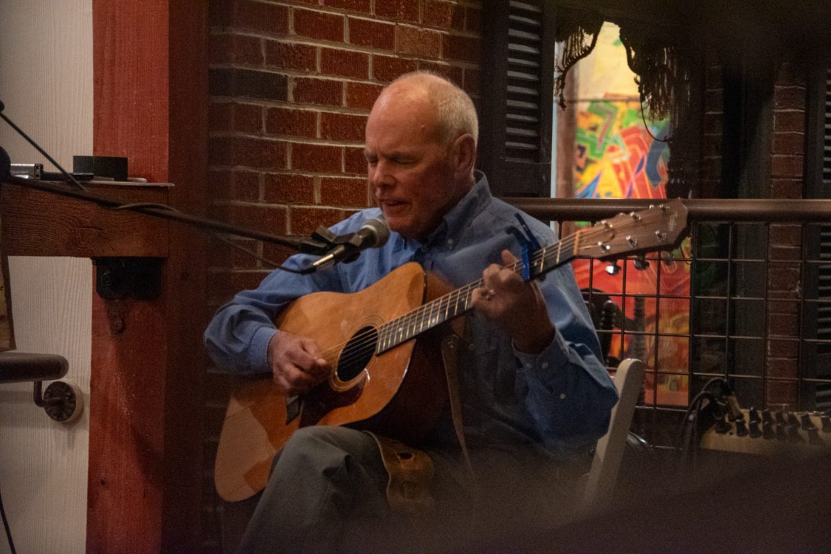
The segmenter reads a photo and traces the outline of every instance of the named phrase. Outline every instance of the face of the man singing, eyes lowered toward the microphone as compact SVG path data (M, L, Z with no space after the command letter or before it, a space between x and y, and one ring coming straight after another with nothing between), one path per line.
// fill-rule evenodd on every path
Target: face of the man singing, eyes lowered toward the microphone
M390 228L424 240L464 196L452 145L435 132L435 110L406 87L390 87L366 122L367 173Z

